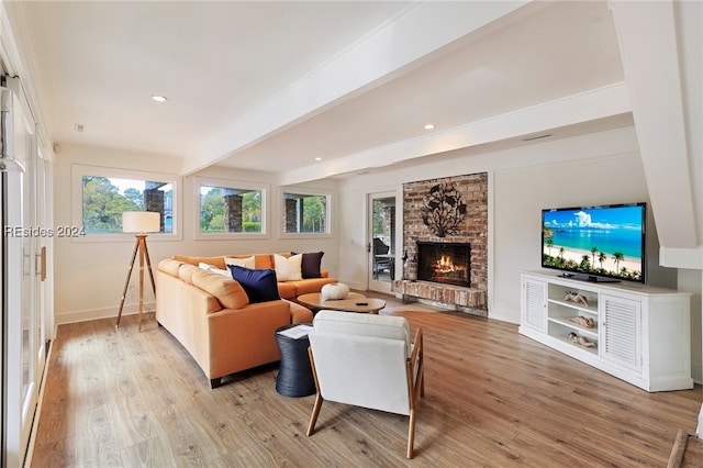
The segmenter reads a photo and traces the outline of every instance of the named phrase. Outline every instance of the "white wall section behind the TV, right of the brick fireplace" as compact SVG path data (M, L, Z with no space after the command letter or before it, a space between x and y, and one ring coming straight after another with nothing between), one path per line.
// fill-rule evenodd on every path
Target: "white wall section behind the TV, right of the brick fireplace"
M494 192L493 316L511 322L520 321L515 315L520 309L520 270L540 269L542 209L649 202L637 154L502 170L495 174ZM676 288L677 270L658 267L659 244L651 210L647 212L647 282Z

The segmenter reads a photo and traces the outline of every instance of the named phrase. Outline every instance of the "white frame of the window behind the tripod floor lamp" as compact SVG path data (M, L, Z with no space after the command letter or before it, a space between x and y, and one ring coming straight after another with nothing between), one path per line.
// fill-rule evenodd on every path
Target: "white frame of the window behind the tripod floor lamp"
M171 196L171 232L170 233L148 233L149 241L182 241L181 216L180 216L180 193L181 178L175 174L152 172L137 169L120 169L113 167L88 166L81 164L71 165L71 227L83 227L83 190L82 180L86 176L105 177L114 179L131 179L144 181L167 182L172 187ZM115 242L132 241L134 234L131 233L104 233L86 234L83 236L71 236L71 242Z

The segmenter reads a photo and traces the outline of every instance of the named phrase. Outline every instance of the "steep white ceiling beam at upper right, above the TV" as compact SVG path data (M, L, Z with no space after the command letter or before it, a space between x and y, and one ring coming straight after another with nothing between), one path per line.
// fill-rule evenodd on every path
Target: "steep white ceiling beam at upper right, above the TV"
M696 248L699 214L673 3L617 0L611 4L659 244Z

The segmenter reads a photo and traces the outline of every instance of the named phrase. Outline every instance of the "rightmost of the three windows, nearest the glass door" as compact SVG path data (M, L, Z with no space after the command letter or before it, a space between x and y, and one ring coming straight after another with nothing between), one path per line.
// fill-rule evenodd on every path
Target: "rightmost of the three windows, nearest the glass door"
M330 198L324 193L283 191L282 226L290 234L330 234Z

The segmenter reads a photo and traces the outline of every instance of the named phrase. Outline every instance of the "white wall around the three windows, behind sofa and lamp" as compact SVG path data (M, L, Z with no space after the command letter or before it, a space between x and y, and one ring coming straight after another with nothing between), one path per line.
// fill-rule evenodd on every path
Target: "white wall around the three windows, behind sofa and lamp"
M55 225L71 225L71 165L90 165L141 171L178 174L180 160L158 155L146 155L124 151L78 145L62 145L57 155L54 186L54 221ZM193 177L186 177L181 182L180 203L182 207L182 237L178 241L158 239L150 236L147 241L149 257L154 270L159 260L176 254L180 255L223 255L254 254L272 252L312 252L323 250L322 267L330 270L331 276L337 274L337 241L334 236L315 239L280 238L279 193L272 176L263 172L243 172L222 168L210 168L194 176L233 181L254 181L270 185L269 227L270 237L237 241L194 241L196 210L193 197ZM305 188L335 190L334 181L308 183ZM336 210L335 210L336 211ZM333 232L335 230L333 219ZM55 316L56 323L69 323L83 320L116 316L122 291L126 279L130 260L134 249L134 236L125 234L115 242L85 242L80 239L55 239ZM131 285L134 292L127 294L123 314L134 313L138 297L138 268L132 272ZM154 308L154 296L150 291L148 276L145 277L145 300Z

